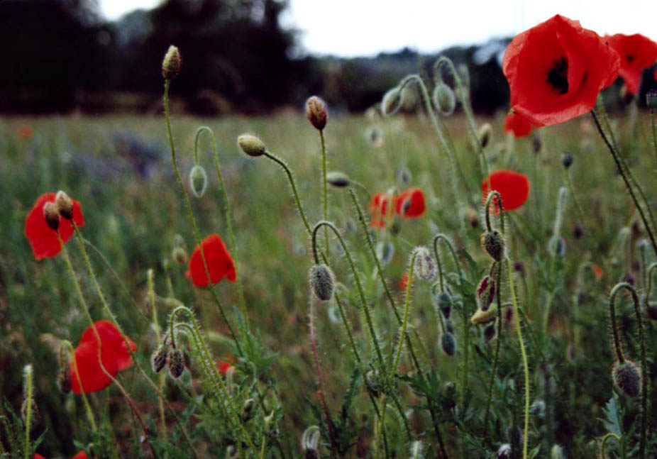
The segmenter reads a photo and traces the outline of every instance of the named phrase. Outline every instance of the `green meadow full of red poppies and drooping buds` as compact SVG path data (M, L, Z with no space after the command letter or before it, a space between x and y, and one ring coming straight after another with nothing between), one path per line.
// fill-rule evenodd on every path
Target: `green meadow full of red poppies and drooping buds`
M657 458L656 59L555 16L506 118L441 57L199 120L172 46L161 117L0 120L0 458Z

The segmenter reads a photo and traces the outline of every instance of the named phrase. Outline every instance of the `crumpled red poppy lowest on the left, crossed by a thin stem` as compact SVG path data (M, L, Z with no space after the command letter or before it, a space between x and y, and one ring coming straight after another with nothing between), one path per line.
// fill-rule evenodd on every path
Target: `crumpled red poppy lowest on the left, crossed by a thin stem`
M114 323L106 320L96 321L94 323L96 330L100 335L101 341L101 359L103 366L112 377L118 372L126 370L132 366L132 358L123 336L119 333ZM128 338L131 350L137 350L137 345ZM98 361L98 341L94 328L87 328L82 333L82 338L75 348L75 362L79 370L79 379L82 381L84 392L97 392L111 384L109 376L101 369ZM73 360L70 363L71 385L75 394L81 394L77 373Z

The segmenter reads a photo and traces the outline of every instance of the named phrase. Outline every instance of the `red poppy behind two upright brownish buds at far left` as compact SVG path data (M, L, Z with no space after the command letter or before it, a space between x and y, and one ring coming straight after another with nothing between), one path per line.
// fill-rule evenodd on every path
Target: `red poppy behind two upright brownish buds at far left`
M77 226L84 226L84 216L82 207L75 199L73 201L73 221ZM55 193L44 193L34 203L28 219L25 222L25 236L32 245L34 258L53 258L62 250L60 241L57 240L57 232L45 223L43 217L43 206L46 202L55 202ZM58 230L64 243L73 235L73 225L67 219L60 218L60 228Z

